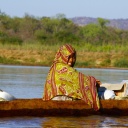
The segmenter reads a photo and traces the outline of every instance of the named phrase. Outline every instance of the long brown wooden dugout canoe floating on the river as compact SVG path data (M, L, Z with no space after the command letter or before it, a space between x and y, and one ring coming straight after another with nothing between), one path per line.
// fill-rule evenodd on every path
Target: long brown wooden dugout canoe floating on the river
M43 101L42 99L17 99L0 102L0 117L128 115L128 100L100 100L100 105L100 110L94 111L81 100Z

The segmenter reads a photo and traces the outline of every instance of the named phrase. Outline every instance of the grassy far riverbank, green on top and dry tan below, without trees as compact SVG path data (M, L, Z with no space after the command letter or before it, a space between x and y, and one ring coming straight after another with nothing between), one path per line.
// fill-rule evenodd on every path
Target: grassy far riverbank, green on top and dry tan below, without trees
M43 45L24 43L11 45L0 43L0 63L50 66L56 51L62 44ZM73 44L77 51L75 67L128 67L128 45Z

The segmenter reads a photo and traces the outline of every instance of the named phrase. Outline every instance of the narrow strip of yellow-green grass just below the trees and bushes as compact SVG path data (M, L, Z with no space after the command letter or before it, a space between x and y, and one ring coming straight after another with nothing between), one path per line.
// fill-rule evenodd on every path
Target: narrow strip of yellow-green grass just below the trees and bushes
M9 50L52 50L57 51L62 44L47 45L41 43L24 43L22 45L13 45L13 44L2 44L0 43L0 49L9 49ZM80 44L71 44L75 47L76 51L79 52L123 52L128 53L128 45L121 44L102 44L102 45L92 45L90 43L80 43Z

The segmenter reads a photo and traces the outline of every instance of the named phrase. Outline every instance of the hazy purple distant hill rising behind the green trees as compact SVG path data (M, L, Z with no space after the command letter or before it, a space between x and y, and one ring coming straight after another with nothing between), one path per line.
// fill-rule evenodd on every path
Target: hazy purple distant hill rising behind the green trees
M97 23L97 18L91 18L91 17L74 17L70 18L75 24L78 24L80 26L87 25L90 23ZM110 21L108 26L117 28L117 29L123 29L128 30L128 19L107 19Z

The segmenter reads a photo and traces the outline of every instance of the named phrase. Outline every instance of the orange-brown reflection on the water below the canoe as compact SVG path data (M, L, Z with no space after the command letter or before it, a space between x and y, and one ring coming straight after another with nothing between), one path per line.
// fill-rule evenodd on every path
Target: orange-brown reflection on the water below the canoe
M81 128L98 126L100 120L98 116L89 117L54 117L47 118L47 121L42 123L43 128Z

